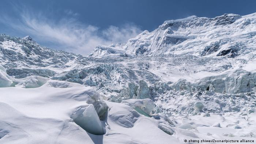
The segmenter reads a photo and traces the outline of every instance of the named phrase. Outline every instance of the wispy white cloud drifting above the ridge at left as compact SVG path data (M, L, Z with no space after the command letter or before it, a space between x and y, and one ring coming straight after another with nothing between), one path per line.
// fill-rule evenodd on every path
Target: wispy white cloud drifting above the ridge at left
M72 11L65 13L76 15ZM5 16L0 22L31 35L39 42L52 43L54 48L82 55L87 55L97 45L122 43L142 32L134 24L124 24L121 27L109 26L102 30L96 26L80 23L76 18L62 18L56 22L42 14L35 15L29 12L22 12L19 21Z

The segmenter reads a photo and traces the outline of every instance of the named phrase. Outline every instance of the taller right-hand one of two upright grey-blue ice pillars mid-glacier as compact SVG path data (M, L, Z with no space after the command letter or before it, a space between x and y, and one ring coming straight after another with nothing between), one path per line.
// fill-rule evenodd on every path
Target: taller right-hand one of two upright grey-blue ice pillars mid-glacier
M147 83L144 80L140 80L137 99L146 99L146 98L151 99L152 97L150 95Z

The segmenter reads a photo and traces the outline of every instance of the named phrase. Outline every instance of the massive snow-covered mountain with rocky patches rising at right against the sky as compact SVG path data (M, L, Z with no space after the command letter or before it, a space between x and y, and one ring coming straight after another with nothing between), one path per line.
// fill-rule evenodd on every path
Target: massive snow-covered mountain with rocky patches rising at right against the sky
M224 14L216 18L190 16L167 20L154 31L145 30L122 45L97 46L89 56L123 52L133 56L182 54L236 57L255 50L255 17L255 13L245 16Z

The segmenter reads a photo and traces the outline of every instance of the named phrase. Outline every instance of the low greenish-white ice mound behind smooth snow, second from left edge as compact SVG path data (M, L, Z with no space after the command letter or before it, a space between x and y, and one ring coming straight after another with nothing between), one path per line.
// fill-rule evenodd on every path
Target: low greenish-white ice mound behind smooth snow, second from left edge
M36 87L41 87L48 80L50 79L46 77L29 76L23 79L15 79L12 85L15 85L15 87L22 87L22 88L36 88Z

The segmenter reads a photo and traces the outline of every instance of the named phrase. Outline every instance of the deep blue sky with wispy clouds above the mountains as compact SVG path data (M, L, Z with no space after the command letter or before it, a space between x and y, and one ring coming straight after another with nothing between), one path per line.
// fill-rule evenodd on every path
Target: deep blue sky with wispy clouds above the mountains
M125 42L165 20L256 12L255 0L1 0L0 33L79 54Z

